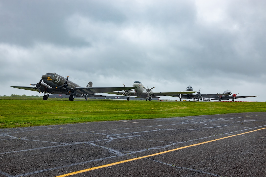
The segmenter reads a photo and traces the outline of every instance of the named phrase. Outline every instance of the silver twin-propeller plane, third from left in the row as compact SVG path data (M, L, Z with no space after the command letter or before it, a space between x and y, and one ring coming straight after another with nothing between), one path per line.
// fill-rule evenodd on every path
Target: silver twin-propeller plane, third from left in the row
M191 86L186 87L186 91L193 91L193 88ZM197 99L197 101L199 101L200 98L212 98L211 96L223 96L223 95L231 95L227 94L227 93L223 93L223 94L201 94L200 90L197 91L196 93L189 93L189 94L178 94L178 95L170 95L170 96L174 96L174 97L178 97L180 98L180 101L182 101L182 98L186 98L190 101L190 99Z

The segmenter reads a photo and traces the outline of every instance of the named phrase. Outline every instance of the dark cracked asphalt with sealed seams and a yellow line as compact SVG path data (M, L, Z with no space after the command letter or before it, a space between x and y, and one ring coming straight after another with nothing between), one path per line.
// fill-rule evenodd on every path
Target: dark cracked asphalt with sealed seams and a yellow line
M0 129L0 176L266 176L266 112Z

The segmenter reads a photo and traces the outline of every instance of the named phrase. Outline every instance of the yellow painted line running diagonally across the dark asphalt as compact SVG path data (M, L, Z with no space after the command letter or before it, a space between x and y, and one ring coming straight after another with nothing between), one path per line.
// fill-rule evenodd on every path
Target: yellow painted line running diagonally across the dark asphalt
M135 160L139 160L139 159L143 159L143 158L147 158L147 157L151 157L151 156L155 156L155 155L159 155L159 154L164 154L164 153L168 153L168 152L172 152L172 151L176 151L176 150L180 150L180 149L185 149L185 148L189 148L189 147L193 147L193 146L197 146L197 145L201 145L201 144L206 144L206 143L213 142L213 141L223 140L223 139L226 139L226 138L231 138L231 137L234 137L234 136L239 136L239 135L242 135L242 134L251 133L251 132L255 132L255 131L263 130L263 129L266 129L266 127L265 128L261 128L261 129L257 129L257 130L252 130L252 131L249 131L249 132L244 132L244 133L239 133L239 134L223 137L223 138L218 138L218 139L215 139L215 140L210 140L210 141L205 141L205 142L201 142L201 143L197 143L197 144L192 144L192 145L184 146L184 147L181 147L181 148L176 148L176 149L172 149L172 150L168 150L168 151L163 151L163 152L159 152L159 153L155 153L155 154L150 154L150 155L146 155L146 156L143 156L143 157L128 159L128 160L125 160L125 161L119 161L119 162L109 163L109 164L106 164L106 165L101 165L101 166L98 166L98 167L88 168L88 169L85 169L85 170L75 171L75 172L72 172L72 173L59 175L59 176L55 176L55 177L63 177L63 176L70 176L70 175L74 175L74 174L79 174L79 173L83 173L83 172L87 172L87 171L96 170L96 169L99 169L99 168L104 168L104 167L109 167L109 166L113 166L113 165L118 165L118 164L125 163L125 162L135 161Z

